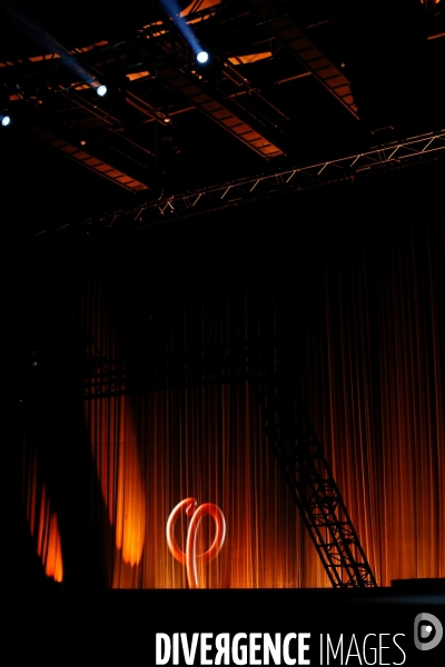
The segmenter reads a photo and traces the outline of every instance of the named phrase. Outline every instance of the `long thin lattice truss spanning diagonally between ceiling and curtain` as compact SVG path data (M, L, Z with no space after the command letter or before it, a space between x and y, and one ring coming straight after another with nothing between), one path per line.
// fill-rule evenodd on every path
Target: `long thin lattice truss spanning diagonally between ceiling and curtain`
M103 213L99 218L63 223L56 230L72 240L93 238L110 231L125 231L189 218L222 208L284 195L330 182L354 180L386 169L399 169L424 160L445 157L445 129L356 152L347 157L295 167L268 175L226 181L179 195L146 200L137 207ZM112 229L111 229L112 228ZM46 238L47 230L36 236Z

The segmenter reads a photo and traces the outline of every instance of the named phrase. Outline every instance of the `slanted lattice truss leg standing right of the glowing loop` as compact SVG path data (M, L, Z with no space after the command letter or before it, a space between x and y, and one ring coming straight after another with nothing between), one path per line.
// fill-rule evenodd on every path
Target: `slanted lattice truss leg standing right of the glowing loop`
M259 375L266 434L335 588L377 586L304 406L279 374Z

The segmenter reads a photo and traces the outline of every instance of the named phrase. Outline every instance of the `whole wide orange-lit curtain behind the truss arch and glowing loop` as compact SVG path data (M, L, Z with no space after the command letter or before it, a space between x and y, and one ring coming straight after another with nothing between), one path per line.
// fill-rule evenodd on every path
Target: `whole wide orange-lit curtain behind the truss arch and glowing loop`
M394 177L158 229L126 255L107 241L77 252L69 299L130 380L142 355L275 337L386 586L445 576L444 210L433 186L408 191ZM202 587L329 586L248 382L91 398L85 424L108 586L187 586L165 530L189 496L227 521Z

